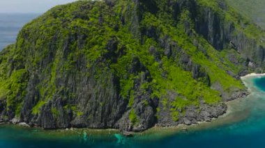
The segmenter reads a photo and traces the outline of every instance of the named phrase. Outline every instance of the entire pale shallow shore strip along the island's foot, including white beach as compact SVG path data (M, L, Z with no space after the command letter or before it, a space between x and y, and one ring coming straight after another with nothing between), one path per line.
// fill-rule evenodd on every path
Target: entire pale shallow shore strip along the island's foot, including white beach
M249 87L248 83L245 82L245 80L249 78L253 78L256 76L265 76L265 74L247 74L245 76L241 76L241 80L243 81L244 85L248 88L249 92L252 92L252 88ZM141 135L152 135L153 139L156 138L163 138L167 137L169 135L174 135L176 133L180 132L189 132L189 131L198 131L203 129L211 129L218 126L223 126L225 124L232 124L233 122L239 122L241 120L244 120L249 115L248 108L244 110L235 110L234 106L236 104L239 104L239 102L248 99L248 97L238 98L234 99L232 101L226 101L225 104L227 105L226 113L223 115L220 115L217 118L213 118L211 122L197 122L197 124L191 124L191 125L185 125L185 124L179 124L177 126L153 126L150 129L147 129L146 131L141 131L137 133L133 133L133 135L139 137ZM90 135L109 135L109 134L120 134L123 135L122 131L119 131L119 129L54 129L54 130L44 130L41 127L29 127L28 124L22 122L22 123L15 123L15 122L4 122L1 123L3 125L6 124L13 124L14 126L22 126L24 128L28 129L40 129L44 132L52 132L54 134L82 134L82 132L89 133ZM1 125L0 124L0 125ZM145 136L144 136L145 137Z

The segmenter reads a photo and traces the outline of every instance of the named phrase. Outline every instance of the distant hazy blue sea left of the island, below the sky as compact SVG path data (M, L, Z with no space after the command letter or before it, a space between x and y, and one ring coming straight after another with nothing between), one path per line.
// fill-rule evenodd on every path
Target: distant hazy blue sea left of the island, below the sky
M0 13L0 51L8 44L13 44L22 26L38 15Z

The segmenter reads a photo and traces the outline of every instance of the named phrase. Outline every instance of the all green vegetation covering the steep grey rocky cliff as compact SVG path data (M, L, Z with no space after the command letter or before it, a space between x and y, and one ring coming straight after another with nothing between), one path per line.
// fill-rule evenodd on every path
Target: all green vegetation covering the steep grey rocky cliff
M15 45L1 51L0 100L6 100L7 108L19 116L31 91L27 87L33 85L39 95L31 108L33 115L48 101L61 98L70 102L63 108L80 117L87 114L77 108L77 99L82 97L79 90L111 90L109 83L115 78L117 96L128 101L130 122L137 124L132 106L141 95L162 99L164 107L170 106L173 120L178 121L187 106L218 104L222 93L244 89L232 75L243 68L241 55L228 46L216 50L198 33L192 10L183 7L176 14L167 2L154 1L157 8L141 2L142 7L137 8L133 1L116 1L114 6L104 1L77 1L52 8L24 26ZM209 8L220 18L220 25L234 24L236 31L253 40L264 35L248 19L235 15L232 8L222 10L218 0L199 0L196 4L198 18ZM247 24L245 28L241 19ZM239 64L232 63L228 55L236 57ZM92 84L82 83L90 79ZM109 94L95 93L102 98L93 104L101 108L109 105L104 100ZM149 106L148 101L142 102ZM163 109L156 108L158 112ZM59 116L56 108L52 113Z

